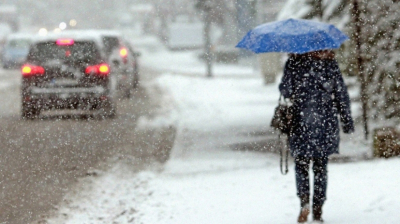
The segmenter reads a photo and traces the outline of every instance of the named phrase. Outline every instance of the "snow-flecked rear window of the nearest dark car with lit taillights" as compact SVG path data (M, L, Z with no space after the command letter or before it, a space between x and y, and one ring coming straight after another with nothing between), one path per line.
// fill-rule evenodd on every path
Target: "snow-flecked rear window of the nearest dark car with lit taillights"
M38 43L29 52L28 60L46 62L64 60L72 62L96 63L99 52L93 42L74 42L73 45L57 45L55 42Z

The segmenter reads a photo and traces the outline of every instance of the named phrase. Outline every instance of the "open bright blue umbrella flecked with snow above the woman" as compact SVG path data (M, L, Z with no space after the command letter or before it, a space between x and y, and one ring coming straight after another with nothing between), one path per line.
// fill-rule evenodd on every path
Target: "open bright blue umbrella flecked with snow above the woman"
M349 39L335 26L303 19L265 23L249 31L236 47L255 53L303 54L336 49Z

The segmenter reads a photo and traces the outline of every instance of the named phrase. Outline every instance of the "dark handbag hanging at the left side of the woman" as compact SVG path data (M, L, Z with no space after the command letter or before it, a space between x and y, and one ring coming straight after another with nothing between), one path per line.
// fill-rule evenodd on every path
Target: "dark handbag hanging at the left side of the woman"
M271 127L279 130L282 134L289 135L293 122L293 106L288 105L288 103L282 104L281 99L282 95L279 96L279 104L275 108Z

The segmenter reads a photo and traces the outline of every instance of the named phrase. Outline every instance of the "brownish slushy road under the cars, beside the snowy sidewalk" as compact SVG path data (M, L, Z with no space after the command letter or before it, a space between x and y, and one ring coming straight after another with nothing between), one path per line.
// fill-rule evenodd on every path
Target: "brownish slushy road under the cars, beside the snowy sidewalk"
M0 223L37 219L79 177L95 175L93 170L112 161L126 159L133 171L140 171L168 157L173 127L137 129L139 118L155 116L161 108L162 93L145 87L157 73L142 74L142 87L133 99L118 102L114 120L45 116L25 121L20 119L19 71L0 70ZM154 147L160 141L163 147Z

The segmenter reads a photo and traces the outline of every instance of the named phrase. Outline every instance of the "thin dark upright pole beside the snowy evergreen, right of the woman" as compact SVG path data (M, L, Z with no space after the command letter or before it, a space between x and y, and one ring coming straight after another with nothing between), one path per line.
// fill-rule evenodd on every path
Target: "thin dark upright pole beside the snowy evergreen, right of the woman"
M361 16L360 9L358 5L358 0L353 0L352 8L353 20L354 20L354 41L356 44L356 54L357 54L357 68L358 68L358 78L361 83L361 105L363 111L363 123L364 123L364 134L365 140L368 140L369 130L368 130L368 93L367 93L367 80L364 74L364 60L361 55Z

